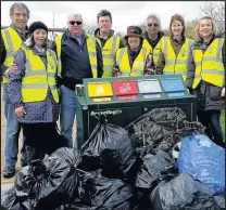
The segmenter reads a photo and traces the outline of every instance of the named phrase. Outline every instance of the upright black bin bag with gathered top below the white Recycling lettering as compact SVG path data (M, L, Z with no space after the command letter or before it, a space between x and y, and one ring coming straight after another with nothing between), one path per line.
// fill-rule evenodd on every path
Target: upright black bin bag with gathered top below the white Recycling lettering
M127 132L118 126L100 121L80 154L78 169L102 169L102 174L106 178L131 182L135 179L138 161Z

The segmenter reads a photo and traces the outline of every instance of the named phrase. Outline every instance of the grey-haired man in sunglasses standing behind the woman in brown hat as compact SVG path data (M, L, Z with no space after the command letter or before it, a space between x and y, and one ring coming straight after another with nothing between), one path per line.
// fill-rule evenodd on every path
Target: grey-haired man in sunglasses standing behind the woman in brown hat
M158 63L158 57L160 54L160 48L162 43L162 38L164 34L160 31L161 23L160 18L154 15L150 14L146 19L146 32L143 34L143 47L148 49L149 52L152 54L152 62L154 65Z

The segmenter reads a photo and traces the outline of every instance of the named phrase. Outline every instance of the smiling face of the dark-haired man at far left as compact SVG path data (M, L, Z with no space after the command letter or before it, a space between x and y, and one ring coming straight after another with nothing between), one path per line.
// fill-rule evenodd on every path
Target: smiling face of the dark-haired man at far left
M14 9L11 19L16 28L25 29L28 21L26 9Z

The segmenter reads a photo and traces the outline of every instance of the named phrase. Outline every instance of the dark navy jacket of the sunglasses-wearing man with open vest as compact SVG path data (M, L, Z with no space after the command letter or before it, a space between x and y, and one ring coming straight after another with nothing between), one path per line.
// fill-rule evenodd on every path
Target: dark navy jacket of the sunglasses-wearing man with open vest
M63 34L62 48L61 48L61 62L62 62L62 83L75 90L75 86L83 83L84 78L92 78L91 66L87 50L87 36L80 36L81 43L72 37L68 32ZM55 41L52 43L52 50L56 53ZM98 61L98 78L102 77L103 65L102 54L99 44L96 42L97 61Z

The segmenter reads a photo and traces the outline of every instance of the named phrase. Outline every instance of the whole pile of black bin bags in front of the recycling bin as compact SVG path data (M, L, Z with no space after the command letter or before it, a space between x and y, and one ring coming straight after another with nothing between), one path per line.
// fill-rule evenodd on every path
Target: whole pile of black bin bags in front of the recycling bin
M79 153L62 147L24 167L1 196L5 209L219 210L225 197L181 173L172 147L199 122L178 108L156 108L125 129L100 119Z

